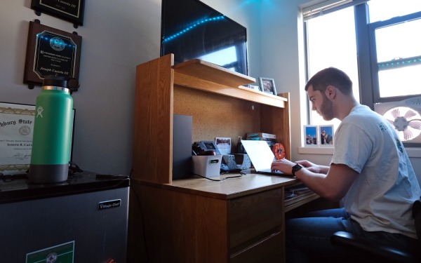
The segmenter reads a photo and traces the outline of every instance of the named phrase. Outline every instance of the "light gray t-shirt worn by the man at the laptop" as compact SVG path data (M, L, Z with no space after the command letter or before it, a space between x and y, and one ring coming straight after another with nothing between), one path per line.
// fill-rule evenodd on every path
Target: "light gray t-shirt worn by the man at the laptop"
M358 105L340 123L331 163L360 173L343 198L347 213L366 231L417 238L412 204L420 184L394 127L380 114Z

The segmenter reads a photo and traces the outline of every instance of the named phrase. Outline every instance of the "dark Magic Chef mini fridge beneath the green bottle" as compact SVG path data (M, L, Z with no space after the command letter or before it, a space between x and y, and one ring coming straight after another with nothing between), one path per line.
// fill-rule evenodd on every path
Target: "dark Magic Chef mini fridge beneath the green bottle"
M128 177L15 178L0 180L0 262L126 262Z

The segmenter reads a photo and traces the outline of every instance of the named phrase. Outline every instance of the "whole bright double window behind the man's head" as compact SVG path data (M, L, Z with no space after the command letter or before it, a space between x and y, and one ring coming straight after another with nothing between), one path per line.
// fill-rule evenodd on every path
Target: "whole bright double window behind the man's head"
M372 109L421 94L420 0L326 0L303 9L303 17L307 80L338 67L351 77L357 100ZM310 112L307 124L326 124Z

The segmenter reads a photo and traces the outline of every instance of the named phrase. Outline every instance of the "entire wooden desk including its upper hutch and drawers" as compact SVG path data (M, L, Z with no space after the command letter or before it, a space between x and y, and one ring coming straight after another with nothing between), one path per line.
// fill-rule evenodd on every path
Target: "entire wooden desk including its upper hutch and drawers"
M297 180L172 180L173 114L192 115L193 141L273 133L290 159L289 94L241 86L254 82L201 60L173 65L173 55L136 68L131 182L148 262L283 262L284 213L316 198L285 203L284 188Z

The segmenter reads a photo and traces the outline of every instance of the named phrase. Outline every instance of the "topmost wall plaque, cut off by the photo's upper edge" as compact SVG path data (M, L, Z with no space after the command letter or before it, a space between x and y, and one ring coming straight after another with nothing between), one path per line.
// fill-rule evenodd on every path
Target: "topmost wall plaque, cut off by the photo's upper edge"
M56 18L73 22L74 25L83 25L85 0L32 0L31 8L34 11L44 12Z

